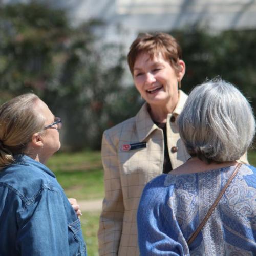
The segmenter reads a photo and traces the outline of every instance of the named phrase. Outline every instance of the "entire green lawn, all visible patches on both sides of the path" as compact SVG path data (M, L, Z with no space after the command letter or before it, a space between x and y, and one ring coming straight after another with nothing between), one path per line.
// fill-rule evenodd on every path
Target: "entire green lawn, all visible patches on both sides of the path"
M248 152L248 160L256 166L256 151ZM77 200L103 198L103 169L99 151L59 152L48 162L68 197ZM81 225L88 255L98 255L98 222L100 212L83 212Z

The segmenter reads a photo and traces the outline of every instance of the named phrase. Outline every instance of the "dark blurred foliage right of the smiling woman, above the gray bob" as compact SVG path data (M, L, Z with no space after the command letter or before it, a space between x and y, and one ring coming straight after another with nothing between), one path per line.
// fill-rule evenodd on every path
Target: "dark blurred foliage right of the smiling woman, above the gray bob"
M210 33L200 26L172 31L182 46L186 74L182 89L189 92L206 79L220 76L237 86L256 111L256 30Z

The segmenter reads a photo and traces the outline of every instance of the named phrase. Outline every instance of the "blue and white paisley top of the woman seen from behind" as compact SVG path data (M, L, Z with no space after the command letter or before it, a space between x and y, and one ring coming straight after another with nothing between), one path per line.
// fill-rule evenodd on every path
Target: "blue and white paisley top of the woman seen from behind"
M188 247L234 167L161 175L143 190L137 221L141 255L256 255L256 169L242 165Z

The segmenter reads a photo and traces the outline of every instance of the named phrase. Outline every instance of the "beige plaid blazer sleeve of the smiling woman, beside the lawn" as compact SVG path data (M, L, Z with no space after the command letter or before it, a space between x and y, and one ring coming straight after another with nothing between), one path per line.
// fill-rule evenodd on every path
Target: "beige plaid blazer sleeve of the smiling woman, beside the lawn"
M117 255L123 224L123 195L121 189L117 148L108 131L102 138L101 158L104 168L105 197L99 221L99 256Z

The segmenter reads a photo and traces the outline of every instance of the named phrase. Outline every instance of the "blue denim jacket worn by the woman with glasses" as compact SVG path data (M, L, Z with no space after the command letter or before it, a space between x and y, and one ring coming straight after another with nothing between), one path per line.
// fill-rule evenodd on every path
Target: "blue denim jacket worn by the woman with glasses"
M87 255L80 221L55 175L28 156L0 170L0 255Z

